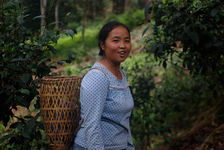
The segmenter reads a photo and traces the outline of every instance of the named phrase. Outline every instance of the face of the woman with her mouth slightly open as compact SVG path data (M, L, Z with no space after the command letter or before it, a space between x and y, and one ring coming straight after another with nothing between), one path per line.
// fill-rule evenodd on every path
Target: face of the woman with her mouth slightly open
M123 26L114 28L107 36L105 43L101 43L105 58L112 63L121 63L131 50L130 34Z

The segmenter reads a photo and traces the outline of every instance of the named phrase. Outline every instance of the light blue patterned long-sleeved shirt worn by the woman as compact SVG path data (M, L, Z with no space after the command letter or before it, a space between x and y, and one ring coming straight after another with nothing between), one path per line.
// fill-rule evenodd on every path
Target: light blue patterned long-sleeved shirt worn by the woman
M99 68L99 69L93 69ZM134 150L129 118L133 98L123 70L118 80L95 63L80 88L81 118L75 143L88 150Z

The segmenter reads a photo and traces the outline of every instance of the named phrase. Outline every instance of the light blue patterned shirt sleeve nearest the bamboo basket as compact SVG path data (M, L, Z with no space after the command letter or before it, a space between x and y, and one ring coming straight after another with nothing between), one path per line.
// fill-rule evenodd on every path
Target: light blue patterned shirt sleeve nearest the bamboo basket
M80 89L80 101L84 111L84 128L89 150L103 150L101 116L105 105L109 81L99 70L89 71L83 78Z

